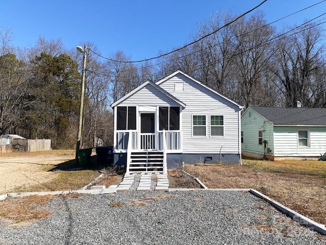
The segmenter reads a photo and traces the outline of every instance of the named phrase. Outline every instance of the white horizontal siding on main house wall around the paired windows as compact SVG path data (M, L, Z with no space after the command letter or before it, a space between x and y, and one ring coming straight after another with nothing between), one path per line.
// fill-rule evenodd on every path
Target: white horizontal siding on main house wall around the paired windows
M183 91L175 91L175 82L183 81ZM177 75L159 86L182 101L183 153L239 154L239 107L183 75ZM206 116L205 136L193 136L193 115ZM210 115L224 116L224 137L209 137Z

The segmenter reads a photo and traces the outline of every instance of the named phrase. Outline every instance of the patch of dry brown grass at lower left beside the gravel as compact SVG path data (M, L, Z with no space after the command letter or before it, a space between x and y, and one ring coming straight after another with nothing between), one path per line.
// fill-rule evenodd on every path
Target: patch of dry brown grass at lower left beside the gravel
M8 198L0 201L0 217L11 223L29 223L35 219L47 218L51 215L45 206L52 195L32 195L21 198Z

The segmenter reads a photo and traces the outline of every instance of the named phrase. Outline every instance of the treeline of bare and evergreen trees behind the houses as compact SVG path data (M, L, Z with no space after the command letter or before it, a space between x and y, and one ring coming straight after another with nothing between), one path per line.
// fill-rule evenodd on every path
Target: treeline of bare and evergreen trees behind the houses
M99 139L113 144L110 104L148 79L157 81L178 69L246 108L292 107L296 101L303 107L326 106L320 22L277 30L258 12L221 28L234 18L215 16L189 43L213 34L146 62L126 63L131 60L123 51L103 59L96 45L85 43L89 50L82 147L93 147ZM11 43L12 33L0 30L0 135L49 138L53 149L73 149L83 55L66 50L60 39L40 38L30 48Z

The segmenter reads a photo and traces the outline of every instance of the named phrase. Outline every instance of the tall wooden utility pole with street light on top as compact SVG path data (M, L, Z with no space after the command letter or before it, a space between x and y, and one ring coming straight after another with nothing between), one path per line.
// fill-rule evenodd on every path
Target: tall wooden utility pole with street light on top
M76 142L76 156L75 162L79 163L78 151L80 148L80 139L82 138L82 128L83 128L83 111L84 111L84 93L85 93L85 77L86 77L86 57L87 57L87 46L83 47L77 46L77 51L83 53L83 76L82 76L82 86L80 89L80 109L79 109L79 122L78 122L78 134L77 134L77 142Z

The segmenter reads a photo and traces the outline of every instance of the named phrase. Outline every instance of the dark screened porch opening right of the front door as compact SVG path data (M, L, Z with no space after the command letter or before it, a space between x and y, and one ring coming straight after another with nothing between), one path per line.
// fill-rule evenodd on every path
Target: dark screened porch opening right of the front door
M180 129L180 107L162 106L158 108L159 130Z

